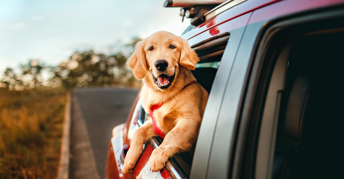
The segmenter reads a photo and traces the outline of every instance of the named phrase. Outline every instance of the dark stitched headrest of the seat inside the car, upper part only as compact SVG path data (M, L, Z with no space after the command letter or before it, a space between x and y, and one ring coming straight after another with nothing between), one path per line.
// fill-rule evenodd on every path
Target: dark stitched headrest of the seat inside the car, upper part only
M298 76L289 95L284 131L296 143L302 142L310 90L311 80L306 76Z

